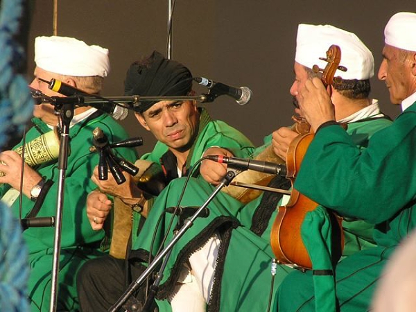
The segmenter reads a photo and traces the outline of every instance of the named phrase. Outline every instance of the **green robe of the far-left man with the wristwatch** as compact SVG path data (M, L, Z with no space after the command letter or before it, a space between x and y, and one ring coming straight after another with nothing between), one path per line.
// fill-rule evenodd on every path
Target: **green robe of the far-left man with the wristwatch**
M127 139L128 135L119 123L111 116L101 114L94 119L81 121L69 130L71 153L68 158L64 185L64 203L62 210L62 236L60 251L60 272L58 284L58 311L77 311L76 272L78 268L92 257L101 255L100 243L103 231L94 231L85 213L85 201L96 185L90 179L94 167L98 165L98 153L89 152L92 146L92 130L99 127L107 135L110 142ZM46 123L33 119L34 126L26 134L26 142L49 132ZM20 146L18 144L18 146ZM135 160L135 151L118 148L114 150L119 156L131 161ZM56 161L41 164L35 170L46 180L53 180L53 185L46 195L37 216L55 216L58 195L58 163ZM10 189L3 184L1 196ZM33 208L30 198L22 198L22 217ZM19 198L12 204L13 214L19 216ZM53 261L53 240L55 227L30 227L23 232L24 241L28 245L31 275L28 281L28 293L31 300L31 311L48 311L51 297L51 271Z

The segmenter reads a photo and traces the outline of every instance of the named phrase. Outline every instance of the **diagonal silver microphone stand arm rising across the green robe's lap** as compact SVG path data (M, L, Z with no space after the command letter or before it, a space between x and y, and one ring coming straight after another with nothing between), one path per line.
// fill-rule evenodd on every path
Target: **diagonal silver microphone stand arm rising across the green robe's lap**
M137 291L139 289L141 284L143 284L144 280L150 275L151 272L153 272L153 270L155 270L157 264L160 261L162 261L162 259L166 255L167 255L166 257L168 257L168 254L170 254L173 246L184 235L184 233L187 232L187 230L193 225L193 221L195 221L196 218L198 218L199 214L203 210L205 210L205 208L209 205L209 202L211 202L211 200L214 199L216 194L219 193L219 191L221 189L223 189L223 187L226 187L229 184L229 182L231 182L232 179L234 179L234 177L238 173L239 173L238 171L233 171L233 170L227 171L227 174L221 179L220 184L218 184L216 189L214 189L214 192L209 196L209 198L202 204L201 207L199 207L195 211L195 214L193 214L193 216L191 216L190 218L187 218L184 225L177 232L175 232L175 235L173 236L172 241L170 243L168 243L168 245L166 245L166 247L161 252L159 252L159 254L157 254L155 259L153 259L153 261L149 264L148 268L146 268L146 270L144 270L144 272L142 272L141 275L135 281L133 281L132 284L130 284L127 291L125 291L125 293L123 293L123 295L121 295L119 300L117 300L117 302L113 306L110 307L108 312L119 311L119 309L123 306L123 304L125 302L128 302L128 298L133 293L135 293L135 291ZM130 304L130 302L129 302L129 304ZM123 306L123 309L125 309L125 311L128 311L128 312L137 311L137 302L133 302L131 304L131 306L127 307L127 309L125 308L125 306Z

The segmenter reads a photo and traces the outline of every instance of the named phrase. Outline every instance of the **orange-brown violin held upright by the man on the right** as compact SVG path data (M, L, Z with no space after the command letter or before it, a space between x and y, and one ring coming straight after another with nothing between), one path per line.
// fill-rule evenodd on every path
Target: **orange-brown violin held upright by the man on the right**
M313 71L315 71L315 73L322 71L322 83L327 87L327 91L329 92L329 95L331 95L331 85L333 84L336 70L346 70L345 67L339 66L341 59L340 47L331 45L327 51L327 58L320 59L327 61L327 66L322 70L317 65L314 65ZM306 133L297 136L288 148L288 153L286 155L286 178L291 180L291 198L286 205L278 208L278 213L270 233L270 243L272 251L279 263L301 270L311 270L311 259L302 241L300 227L306 214L318 207L319 204L293 188L293 184L306 150L313 140L314 133L311 132L311 128L308 127L309 124L306 120L296 119L295 121L300 123L300 126L303 129L306 129L304 131ZM333 241L337 242L332 244L334 246L333 255L335 258L338 257L339 259L344 245L343 229L341 225L342 218L331 213L330 216L331 221L333 221Z

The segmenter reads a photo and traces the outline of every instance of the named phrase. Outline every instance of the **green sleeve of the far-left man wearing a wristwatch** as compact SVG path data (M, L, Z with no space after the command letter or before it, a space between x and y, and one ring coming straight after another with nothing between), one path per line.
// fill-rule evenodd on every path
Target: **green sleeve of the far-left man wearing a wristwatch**
M64 179L64 202L62 209L62 248L70 248L76 245L96 244L103 238L102 231L94 231L89 225L87 214L85 213L85 201L87 195L96 185L91 180L94 167L98 165L98 153L91 153L89 147L92 146L92 130L100 127L109 141L116 142L127 139L127 133L120 125L113 121L111 117L98 118L89 125L85 126L78 134L71 138L71 153L68 157L67 170ZM128 148L116 148L119 156L135 161L135 151ZM37 216L55 216L56 202L59 189L59 170L58 164L44 164L36 168L40 175L46 180L53 180L53 185L46 194L44 203ZM13 212L17 216L18 200L12 205ZM33 207L30 198L22 198L23 216ZM33 227L24 232L29 244L31 253L46 248L53 248L53 227Z

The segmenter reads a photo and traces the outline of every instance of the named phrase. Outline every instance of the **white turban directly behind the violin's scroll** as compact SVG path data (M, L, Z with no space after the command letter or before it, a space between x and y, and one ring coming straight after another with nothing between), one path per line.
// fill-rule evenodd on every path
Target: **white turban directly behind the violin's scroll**
M343 79L364 80L374 76L374 57L371 51L354 33L331 25L300 24L297 28L295 61L312 68L317 64L324 68L329 46L336 44L341 49L340 65L347 71L337 70L335 76Z

